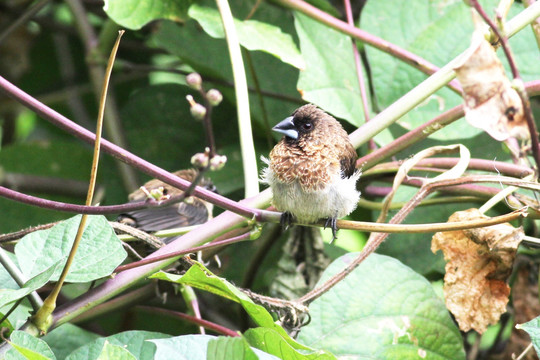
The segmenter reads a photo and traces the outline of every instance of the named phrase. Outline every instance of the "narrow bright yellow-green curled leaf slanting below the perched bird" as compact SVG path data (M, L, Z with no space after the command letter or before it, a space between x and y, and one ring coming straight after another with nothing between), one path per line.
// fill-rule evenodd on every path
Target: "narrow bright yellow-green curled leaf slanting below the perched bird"
M165 272L158 272L150 276L151 279L170 281L176 284L183 284L196 289L208 291L226 299L239 303L249 314L253 321L262 327L275 330L295 349L306 349L301 344L294 341L285 330L277 325L272 315L262 306L257 305L246 294L237 289L226 279L220 278L204 265L195 262L184 275L175 275Z

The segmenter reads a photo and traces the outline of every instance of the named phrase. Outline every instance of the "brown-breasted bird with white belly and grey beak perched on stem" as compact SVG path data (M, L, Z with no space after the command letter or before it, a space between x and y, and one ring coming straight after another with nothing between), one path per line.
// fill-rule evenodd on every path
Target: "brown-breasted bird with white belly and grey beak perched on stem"
M343 126L313 104L296 109L272 130L283 138L270 152L262 182L270 186L272 205L293 221L326 219L337 239L337 219L350 214L360 198L357 154Z

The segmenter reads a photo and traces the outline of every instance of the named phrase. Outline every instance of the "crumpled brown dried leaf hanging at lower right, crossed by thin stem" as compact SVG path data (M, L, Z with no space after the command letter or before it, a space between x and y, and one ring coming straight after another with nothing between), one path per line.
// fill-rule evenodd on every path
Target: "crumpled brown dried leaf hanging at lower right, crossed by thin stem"
M458 211L448 222L488 219L477 209ZM439 232L431 250L442 250L446 260L446 307L463 331L483 333L506 311L512 271L523 230L509 223L479 229Z

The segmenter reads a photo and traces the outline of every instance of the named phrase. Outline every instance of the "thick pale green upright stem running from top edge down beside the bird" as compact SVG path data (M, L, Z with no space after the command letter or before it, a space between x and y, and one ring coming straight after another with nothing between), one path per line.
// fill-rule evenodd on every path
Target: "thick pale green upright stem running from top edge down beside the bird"
M242 151L242 163L244 166L245 197L254 196L259 192L259 175L257 171L257 159L255 157L255 145L251 131L251 118L249 112L249 96L242 51L238 42L234 18L227 0L216 0L225 38L229 47L229 56L233 69L234 90L236 93L236 109L238 111L238 130L240 132L240 148Z

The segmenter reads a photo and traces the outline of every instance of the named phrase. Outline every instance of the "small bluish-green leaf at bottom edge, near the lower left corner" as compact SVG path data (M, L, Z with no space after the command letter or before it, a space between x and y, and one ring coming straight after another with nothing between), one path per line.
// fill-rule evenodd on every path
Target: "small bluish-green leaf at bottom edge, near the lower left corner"
M66 323L50 331L43 340L58 359L65 359L71 352L99 338L98 335L76 325Z

